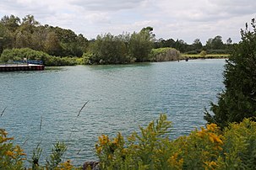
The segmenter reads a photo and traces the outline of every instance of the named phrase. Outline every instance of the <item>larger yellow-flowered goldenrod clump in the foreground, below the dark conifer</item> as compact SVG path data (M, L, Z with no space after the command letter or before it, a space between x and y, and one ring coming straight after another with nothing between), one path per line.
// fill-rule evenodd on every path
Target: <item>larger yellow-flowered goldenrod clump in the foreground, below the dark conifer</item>
M245 119L221 131L215 124L171 140L166 115L124 141L118 133L96 144L101 169L253 169L256 123Z

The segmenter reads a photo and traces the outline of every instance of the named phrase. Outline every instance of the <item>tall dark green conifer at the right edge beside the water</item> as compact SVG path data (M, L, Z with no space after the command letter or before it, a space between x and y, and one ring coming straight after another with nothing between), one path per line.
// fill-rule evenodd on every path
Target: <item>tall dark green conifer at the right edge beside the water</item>
M242 41L234 46L226 61L224 84L226 90L212 104L213 114L206 112L204 119L222 128L230 122L241 122L256 116L256 23L252 29L241 30Z

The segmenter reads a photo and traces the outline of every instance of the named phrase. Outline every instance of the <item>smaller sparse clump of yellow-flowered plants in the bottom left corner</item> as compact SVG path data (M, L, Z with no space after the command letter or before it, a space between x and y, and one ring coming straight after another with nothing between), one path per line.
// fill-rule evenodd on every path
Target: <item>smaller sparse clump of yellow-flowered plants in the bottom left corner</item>
M0 129L0 169L4 170L23 170L25 168L25 161L30 162L30 170L43 170L43 169L55 169L55 170L75 170L81 169L81 167L74 167L70 160L63 162L63 154L67 150L67 146L63 142L56 142L52 148L52 154L49 159L46 160L45 165L41 165L39 159L41 157L41 147L38 145L33 151L31 160L26 157L24 150L14 145L13 137L8 137L8 133Z

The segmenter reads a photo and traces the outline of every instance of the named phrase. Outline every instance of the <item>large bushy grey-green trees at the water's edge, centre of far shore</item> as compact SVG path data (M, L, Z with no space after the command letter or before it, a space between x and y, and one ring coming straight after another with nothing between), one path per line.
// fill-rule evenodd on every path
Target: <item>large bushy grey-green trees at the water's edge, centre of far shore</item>
M123 64L133 61L150 61L150 51L155 35L147 27L132 35L98 35L90 52L83 55L89 64Z

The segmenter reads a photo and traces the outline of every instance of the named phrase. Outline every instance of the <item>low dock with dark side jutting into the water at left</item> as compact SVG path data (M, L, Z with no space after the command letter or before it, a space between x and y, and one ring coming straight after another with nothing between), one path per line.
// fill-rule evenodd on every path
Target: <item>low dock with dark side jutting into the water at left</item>
M45 69L44 65L36 65L36 64L3 64L3 65L0 65L0 72L41 71L44 69Z

